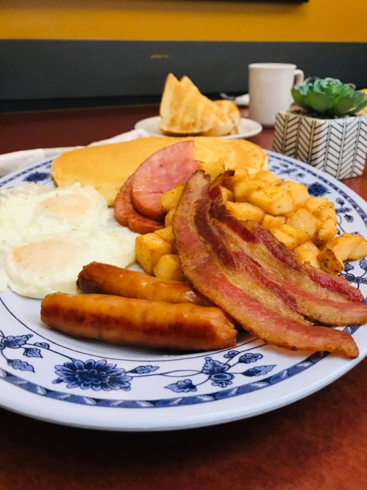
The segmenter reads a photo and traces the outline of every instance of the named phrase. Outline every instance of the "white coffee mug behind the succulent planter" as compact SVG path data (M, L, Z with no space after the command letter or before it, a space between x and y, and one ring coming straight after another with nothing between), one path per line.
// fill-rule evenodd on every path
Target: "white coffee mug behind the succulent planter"
M291 63L249 65L249 117L263 126L274 126L279 111L292 104L291 88L304 80L304 73Z

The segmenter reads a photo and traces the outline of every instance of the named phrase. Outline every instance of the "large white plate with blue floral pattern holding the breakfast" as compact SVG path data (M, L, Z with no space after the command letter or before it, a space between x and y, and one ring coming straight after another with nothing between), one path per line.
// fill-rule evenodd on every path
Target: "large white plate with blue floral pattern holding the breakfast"
M268 153L270 170L335 203L340 231L367 236L367 203L351 189L304 163ZM0 187L24 181L53 186L50 165L48 161L8 176ZM366 296L367 260L347 265L344 275ZM354 360L290 352L245 333L236 348L216 352L124 348L48 330L40 322L39 308L40 301L11 290L0 295L0 405L78 427L182 429L250 417L313 393L367 354L367 334L358 325L347 328L360 350ZM100 389L89 384L91 375L97 381L94 388ZM110 389L110 381L118 389Z

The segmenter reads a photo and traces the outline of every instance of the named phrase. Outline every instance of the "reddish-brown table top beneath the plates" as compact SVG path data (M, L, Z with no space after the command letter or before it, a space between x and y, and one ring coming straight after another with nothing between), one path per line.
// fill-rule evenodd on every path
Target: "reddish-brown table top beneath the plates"
M156 113L135 106L0 114L0 153L88 144ZM252 140L271 149L272 135ZM345 182L367 199L367 169ZM365 490L364 376L366 360L290 406L178 432L74 429L0 409L0 490Z

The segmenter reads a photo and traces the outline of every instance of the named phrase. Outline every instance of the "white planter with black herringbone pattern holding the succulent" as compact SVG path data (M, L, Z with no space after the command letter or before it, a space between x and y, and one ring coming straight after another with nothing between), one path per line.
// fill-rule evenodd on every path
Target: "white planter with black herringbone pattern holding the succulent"
M317 119L278 112L273 150L324 170L337 179L362 175L367 154L367 117Z

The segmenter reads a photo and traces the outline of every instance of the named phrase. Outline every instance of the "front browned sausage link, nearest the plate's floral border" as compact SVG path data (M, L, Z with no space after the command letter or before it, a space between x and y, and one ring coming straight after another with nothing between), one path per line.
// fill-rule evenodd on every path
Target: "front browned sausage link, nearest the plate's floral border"
M179 350L233 347L237 335L219 308L108 295L48 295L41 320L76 337Z

